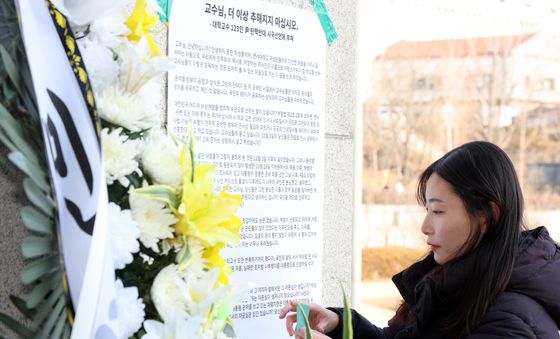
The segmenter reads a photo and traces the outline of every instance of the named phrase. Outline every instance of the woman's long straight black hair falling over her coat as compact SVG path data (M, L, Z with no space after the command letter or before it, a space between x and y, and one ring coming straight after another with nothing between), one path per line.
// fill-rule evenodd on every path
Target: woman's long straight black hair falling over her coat
M438 324L443 332L464 337L479 325L510 280L525 228L523 195L510 158L501 148L485 141L455 148L424 170L417 189L418 202L423 206L426 185L434 173L451 185L474 225L458 257L438 267L439 274L432 275L436 279L445 277L446 271L451 272L459 261L466 269L464 276L469 281L462 284L457 303ZM410 319L411 312L405 304L395 317Z

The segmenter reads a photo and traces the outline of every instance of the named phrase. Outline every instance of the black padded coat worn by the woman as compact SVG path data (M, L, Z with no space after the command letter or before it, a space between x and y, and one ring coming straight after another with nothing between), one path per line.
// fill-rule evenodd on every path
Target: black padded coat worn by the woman
M524 232L522 239L506 290L468 339L560 338L560 247L544 227ZM415 321L404 327L379 328L353 310L354 338L449 338L438 334L434 319L452 307L453 293L460 293L458 286L468 279L458 265L455 274L446 278L446 287L435 288L426 274L436 265L430 255L393 277L403 299L416 306ZM327 335L342 338L342 309L329 309L341 321Z

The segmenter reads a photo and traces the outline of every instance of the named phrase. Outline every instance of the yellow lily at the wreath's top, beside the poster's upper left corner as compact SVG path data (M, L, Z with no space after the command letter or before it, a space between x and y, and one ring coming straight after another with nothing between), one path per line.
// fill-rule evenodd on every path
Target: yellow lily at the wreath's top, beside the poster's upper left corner
M146 0L136 0L134 11L125 22L125 25L130 29L128 40L138 42L145 37L154 56L162 54L161 49L149 34L150 30L158 23L158 20L155 13L147 12Z

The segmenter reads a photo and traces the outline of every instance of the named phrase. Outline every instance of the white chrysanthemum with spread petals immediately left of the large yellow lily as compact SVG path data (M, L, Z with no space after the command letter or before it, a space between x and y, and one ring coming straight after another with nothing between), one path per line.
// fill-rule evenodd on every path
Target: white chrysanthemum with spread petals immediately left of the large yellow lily
M138 223L140 241L144 246L159 252L158 242L173 237L173 228L170 225L175 224L177 218L161 201L135 195L131 195L128 201L132 217Z

